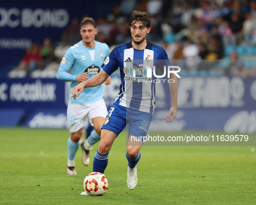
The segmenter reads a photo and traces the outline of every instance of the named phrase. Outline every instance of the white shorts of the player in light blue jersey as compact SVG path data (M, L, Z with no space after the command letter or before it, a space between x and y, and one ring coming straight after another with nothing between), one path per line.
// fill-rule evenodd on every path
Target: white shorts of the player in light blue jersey
M107 106L104 100L96 101L91 104L72 104L68 103L67 118L70 133L75 133L87 123L87 117L93 126L91 119L94 117L106 117Z

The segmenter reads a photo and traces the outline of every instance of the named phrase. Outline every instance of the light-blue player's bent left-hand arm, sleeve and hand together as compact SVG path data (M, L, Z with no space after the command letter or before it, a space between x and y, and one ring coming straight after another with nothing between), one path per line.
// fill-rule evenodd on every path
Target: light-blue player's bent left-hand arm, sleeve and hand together
M88 73L81 73L80 75L72 75L68 73L68 70L72 68L75 63L75 57L73 56L70 49L68 49L65 56L62 58L62 62L59 66L57 72L57 79L63 81L77 81L77 82L84 82L88 79Z

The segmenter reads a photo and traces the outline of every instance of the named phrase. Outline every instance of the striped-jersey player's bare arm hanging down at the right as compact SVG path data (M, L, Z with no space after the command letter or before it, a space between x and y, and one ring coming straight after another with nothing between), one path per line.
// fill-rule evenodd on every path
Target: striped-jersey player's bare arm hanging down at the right
M172 69L174 70L174 68ZM174 73L170 73L169 78L169 88L171 92L171 98L172 98L172 107L170 108L170 112L165 117L166 123L172 122L174 118L177 116L177 94L178 94L178 82L177 82L177 76Z

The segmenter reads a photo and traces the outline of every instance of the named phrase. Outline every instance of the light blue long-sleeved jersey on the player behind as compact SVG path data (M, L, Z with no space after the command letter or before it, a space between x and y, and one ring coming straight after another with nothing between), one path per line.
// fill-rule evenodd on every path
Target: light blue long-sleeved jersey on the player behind
M82 41L79 41L74 46L71 46L62 58L57 73L57 79L71 81L69 103L91 104L103 100L104 92L102 85L94 88L84 88L83 92L79 95L79 98L76 100L71 98L73 88L80 83L75 81L76 77L81 73L88 72L90 79L92 76L99 73L102 69L102 63L109 54L109 47L107 44L102 44L98 41L94 41L94 43L94 48L87 48ZM69 69L71 70L71 74L67 73Z

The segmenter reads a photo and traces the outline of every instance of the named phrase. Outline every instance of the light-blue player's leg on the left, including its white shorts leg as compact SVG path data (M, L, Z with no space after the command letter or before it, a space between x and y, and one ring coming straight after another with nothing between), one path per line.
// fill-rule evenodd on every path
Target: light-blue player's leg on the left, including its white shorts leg
M86 106L81 104L68 103L67 118L68 128L71 137L68 139L68 164L67 174L76 175L75 172L75 155L79 147L79 140L83 133L83 127L86 123L88 112L84 109Z

